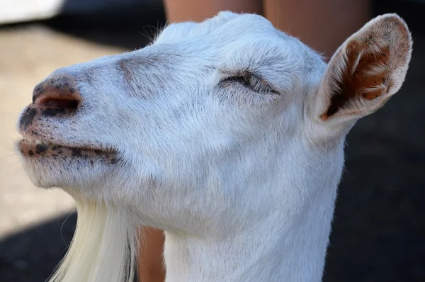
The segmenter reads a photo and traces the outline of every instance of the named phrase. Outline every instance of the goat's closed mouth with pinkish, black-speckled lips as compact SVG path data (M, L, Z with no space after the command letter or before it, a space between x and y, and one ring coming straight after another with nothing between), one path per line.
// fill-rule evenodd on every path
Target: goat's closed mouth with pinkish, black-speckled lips
M34 139L33 137L23 136L17 144L19 152L24 157L54 157L54 158L83 158L83 159L103 159L109 163L118 162L116 150L89 147L81 145L79 147L56 144L47 140Z

